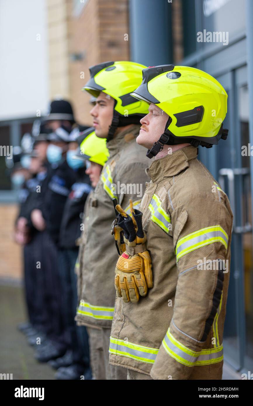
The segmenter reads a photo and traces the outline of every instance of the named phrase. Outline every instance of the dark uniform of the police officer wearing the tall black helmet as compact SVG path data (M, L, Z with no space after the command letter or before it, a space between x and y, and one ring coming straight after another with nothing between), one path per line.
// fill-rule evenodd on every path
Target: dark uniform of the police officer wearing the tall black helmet
M64 160L59 165L52 164L41 185L37 207L46 222L43 232L41 270L44 275L44 306L50 325L47 335L53 341L56 351L52 358L61 356L67 349L67 337L63 328L62 291L58 270L58 242L63 209L71 186L76 181L76 173ZM39 348L38 348L39 350ZM39 361L47 361L47 356L37 354ZM49 356L48 359L51 359Z

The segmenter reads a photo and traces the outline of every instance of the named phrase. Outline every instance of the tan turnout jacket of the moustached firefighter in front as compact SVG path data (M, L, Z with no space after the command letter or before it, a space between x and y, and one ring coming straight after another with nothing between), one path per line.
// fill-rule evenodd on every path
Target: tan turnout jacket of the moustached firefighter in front
M233 222L227 195L192 146L155 160L147 175L139 209L154 287L136 304L116 299L109 363L154 379L221 379Z

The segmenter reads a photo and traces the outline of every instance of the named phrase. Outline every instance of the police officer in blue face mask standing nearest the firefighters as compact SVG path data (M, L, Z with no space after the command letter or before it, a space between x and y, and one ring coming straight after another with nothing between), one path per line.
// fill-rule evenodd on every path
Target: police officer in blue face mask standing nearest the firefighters
M91 192L89 175L86 175L85 160L79 156L80 144L93 129L80 131L87 127L76 127L70 134L71 142L68 144L67 164L77 177L71 186L71 192L64 206L61 228L59 233L58 265L61 269L62 306L64 309L65 329L69 333L69 350L50 365L59 368L56 379L85 379L91 378L89 369L89 342L86 328L78 327L74 322L77 306L76 274L74 272L78 256L76 242L81 234L82 215L86 198Z

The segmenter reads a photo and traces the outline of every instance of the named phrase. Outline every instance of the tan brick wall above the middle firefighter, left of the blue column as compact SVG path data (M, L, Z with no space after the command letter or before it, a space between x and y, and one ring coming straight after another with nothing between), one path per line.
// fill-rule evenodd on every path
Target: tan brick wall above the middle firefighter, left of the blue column
M91 125L89 95L81 88L89 79L89 66L107 60L128 60L128 0L88 0L80 15L73 16L67 1L69 54L82 54L82 60L69 58L69 96L79 123ZM84 73L84 78L82 77Z

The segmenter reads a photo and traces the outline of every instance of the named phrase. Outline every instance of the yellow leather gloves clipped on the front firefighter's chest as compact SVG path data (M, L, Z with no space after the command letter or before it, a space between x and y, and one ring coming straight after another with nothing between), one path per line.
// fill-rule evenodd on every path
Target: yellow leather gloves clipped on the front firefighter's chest
M142 213L134 210L130 200L132 217L120 205L116 206L118 224L124 231L125 252L119 257L115 268L115 289L124 302L138 302L153 287L151 258L146 248L146 235L142 227Z

